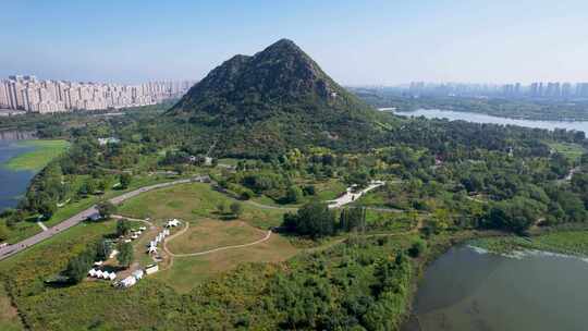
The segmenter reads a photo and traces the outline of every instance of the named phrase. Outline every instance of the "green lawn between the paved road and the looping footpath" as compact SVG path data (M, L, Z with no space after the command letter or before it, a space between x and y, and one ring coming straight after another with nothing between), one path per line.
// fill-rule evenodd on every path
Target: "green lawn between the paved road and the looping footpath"
M125 201L119 213L133 218L170 219L177 218L188 222L208 218L222 220L228 214L220 214L218 206L225 209L237 200L225 196L210 187L209 184L191 183L145 193ZM240 220L253 226L268 229L282 222L284 211L256 208L241 201L243 214Z

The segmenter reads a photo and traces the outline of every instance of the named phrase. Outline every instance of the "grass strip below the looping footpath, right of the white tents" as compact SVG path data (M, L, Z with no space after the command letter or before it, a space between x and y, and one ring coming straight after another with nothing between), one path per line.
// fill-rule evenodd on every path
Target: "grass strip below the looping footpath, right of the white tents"
M180 240L180 237L177 238ZM156 274L156 279L179 293L187 293L203 281L246 262L279 262L298 253L287 238L279 234L255 246L222 250L196 257L174 258L173 267Z

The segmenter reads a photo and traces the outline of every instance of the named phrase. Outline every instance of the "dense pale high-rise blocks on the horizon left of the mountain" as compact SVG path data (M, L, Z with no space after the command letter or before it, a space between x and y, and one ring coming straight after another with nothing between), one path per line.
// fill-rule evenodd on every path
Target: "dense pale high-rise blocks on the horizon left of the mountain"
M50 113L148 106L181 98L194 84L181 81L120 85L9 76L0 81L0 109Z

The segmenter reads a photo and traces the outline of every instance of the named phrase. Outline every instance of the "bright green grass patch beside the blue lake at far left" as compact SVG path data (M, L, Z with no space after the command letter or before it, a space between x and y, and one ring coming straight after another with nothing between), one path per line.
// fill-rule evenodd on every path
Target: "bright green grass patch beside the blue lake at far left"
M70 147L66 140L23 140L19 144L35 149L8 160L4 167L10 170L39 171Z

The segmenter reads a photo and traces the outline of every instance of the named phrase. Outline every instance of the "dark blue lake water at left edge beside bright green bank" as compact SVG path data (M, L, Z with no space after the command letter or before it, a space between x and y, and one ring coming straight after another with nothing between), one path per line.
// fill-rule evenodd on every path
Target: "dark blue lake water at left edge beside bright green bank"
M11 158L33 150L34 147L25 147L17 140L0 139L0 210L14 207L26 192L28 182L35 175L32 171L12 171L3 167Z

